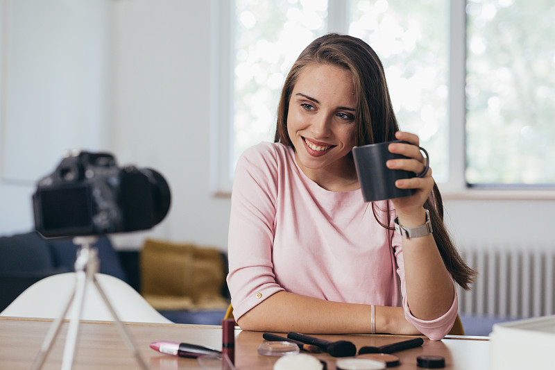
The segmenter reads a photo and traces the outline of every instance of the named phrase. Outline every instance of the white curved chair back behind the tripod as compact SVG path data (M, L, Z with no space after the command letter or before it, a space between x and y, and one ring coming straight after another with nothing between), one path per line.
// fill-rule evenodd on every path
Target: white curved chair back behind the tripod
M123 280L106 274L96 274L96 280L108 296L120 321L171 323ZM75 274L72 272L39 280L19 294L5 310L0 312L0 316L56 319L62 314L69 295L73 292L75 282ZM72 303L65 319L71 318L73 306ZM87 282L81 320L114 320L92 282Z

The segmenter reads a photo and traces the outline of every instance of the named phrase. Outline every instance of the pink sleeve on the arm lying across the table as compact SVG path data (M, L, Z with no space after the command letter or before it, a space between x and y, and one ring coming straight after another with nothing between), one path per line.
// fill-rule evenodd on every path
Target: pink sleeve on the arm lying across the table
M247 149L234 174L227 282L237 320L266 298L284 290L275 282L272 246L278 160L271 146Z

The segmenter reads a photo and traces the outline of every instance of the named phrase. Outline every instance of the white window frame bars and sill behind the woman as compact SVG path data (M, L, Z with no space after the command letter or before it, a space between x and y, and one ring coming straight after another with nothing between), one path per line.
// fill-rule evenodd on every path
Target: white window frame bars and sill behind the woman
M449 174L447 182L438 184L443 199L555 199L555 189L466 183L466 5L466 0L449 4ZM210 114L210 191L224 198L232 189L234 8L234 0L211 0L210 99L217 110ZM328 19L327 32L347 33L348 2L328 0L328 9L334 17Z

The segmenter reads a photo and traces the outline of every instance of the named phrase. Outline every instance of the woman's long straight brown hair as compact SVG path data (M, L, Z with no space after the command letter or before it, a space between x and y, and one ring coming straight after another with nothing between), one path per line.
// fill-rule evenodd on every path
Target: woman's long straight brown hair
M370 45L363 40L349 35L329 33L318 37L300 53L285 79L278 105L275 142L293 146L287 133L289 100L300 74L310 65L334 65L351 72L357 101L355 145L395 140L395 132L399 131L399 126L391 105L382 62ZM476 272L461 258L443 223L443 201L435 183L432 194L424 203L424 208L430 212L434 239L445 267L456 283L464 289L470 289L469 285ZM374 203L372 209L379 224L391 229L390 226L379 221ZM389 208L387 212L389 214Z

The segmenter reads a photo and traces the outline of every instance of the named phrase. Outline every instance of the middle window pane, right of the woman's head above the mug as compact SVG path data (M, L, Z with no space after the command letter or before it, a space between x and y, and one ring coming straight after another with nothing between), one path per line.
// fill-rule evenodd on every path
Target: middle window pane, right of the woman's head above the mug
M382 60L399 126L420 136L438 183L449 178L447 6L436 0L350 0L348 29Z

